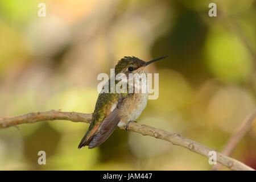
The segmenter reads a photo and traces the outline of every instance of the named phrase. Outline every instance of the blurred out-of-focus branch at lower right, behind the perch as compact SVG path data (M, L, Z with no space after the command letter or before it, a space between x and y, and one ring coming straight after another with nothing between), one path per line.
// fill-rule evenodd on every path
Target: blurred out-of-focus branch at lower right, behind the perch
M226 143L224 149L222 150L222 154L226 156L231 156L234 149L236 148L237 144L240 142L240 140L243 138L243 136L250 130L251 124L253 123L254 119L256 117L256 109L245 118L245 125L237 131L237 133L234 133ZM218 170L221 168L221 164L217 164L212 167L212 170Z

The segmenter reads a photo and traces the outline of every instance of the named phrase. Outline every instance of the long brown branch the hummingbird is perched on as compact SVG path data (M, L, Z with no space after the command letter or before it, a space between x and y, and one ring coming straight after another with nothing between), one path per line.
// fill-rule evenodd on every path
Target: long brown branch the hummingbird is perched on
M19 115L16 117L2 118L0 119L0 129L7 128L10 126L20 125L22 123L35 123L38 121L46 120L69 120L73 122L86 122L90 123L92 121L92 114L83 114L75 112L61 112L56 110L38 112L38 113L29 113L24 115ZM121 127L125 129L125 126ZM207 158L210 158L209 152L216 151L212 148L206 147L203 144L194 142L187 138L181 137L179 134L170 133L161 129L156 129L151 126L141 125L139 123L131 122L127 128L129 131L134 131L142 135L148 135L158 139L166 140L177 146L185 147L188 150L201 154ZM217 162L223 164L224 166L232 170L254 170L249 166L239 162L236 159L229 158L216 151Z

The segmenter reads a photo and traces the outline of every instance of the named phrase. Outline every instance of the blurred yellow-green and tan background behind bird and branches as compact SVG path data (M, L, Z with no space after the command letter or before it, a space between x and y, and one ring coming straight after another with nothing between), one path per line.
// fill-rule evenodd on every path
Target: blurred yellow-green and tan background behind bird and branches
M46 17L38 4L46 3ZM210 2L217 17L208 16ZM1 0L0 118L61 109L92 113L97 75L123 56L151 60L159 98L138 119L221 151L255 108L253 0ZM208 170L208 159L115 130L78 150L86 123L46 121L0 130L0 169ZM38 164L38 151L47 164ZM256 168L256 123L233 158ZM222 169L227 169L223 167Z

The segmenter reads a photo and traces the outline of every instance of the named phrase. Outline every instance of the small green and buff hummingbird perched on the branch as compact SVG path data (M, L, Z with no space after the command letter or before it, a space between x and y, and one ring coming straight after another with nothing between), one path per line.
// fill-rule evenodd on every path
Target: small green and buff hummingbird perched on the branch
M159 57L151 61L143 61L134 56L125 56L115 65L115 74L124 73L128 77L130 73L144 73L147 76L147 65L166 57L168 56ZM106 84L110 84L110 79ZM146 80L140 79L141 81ZM115 84L117 83L118 80L115 80ZM111 88L109 87L109 89ZM138 119L147 105L148 93L129 93L128 89L129 86L127 86L127 92L101 92L99 94L92 114L92 122L78 148L100 146L109 138L116 127L126 125L125 128L127 130L130 122L136 122L136 119Z

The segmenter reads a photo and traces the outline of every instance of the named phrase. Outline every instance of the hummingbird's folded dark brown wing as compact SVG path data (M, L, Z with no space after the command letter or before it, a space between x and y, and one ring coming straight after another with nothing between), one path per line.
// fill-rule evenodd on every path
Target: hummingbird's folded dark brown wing
M121 101L122 102L122 101ZM92 140L90 141L89 148L94 148L105 142L106 139L113 133L115 127L117 127L120 118L118 116L118 107L121 103L117 104L117 107L112 111L108 118L105 118L100 126L100 131L97 134L93 135Z

